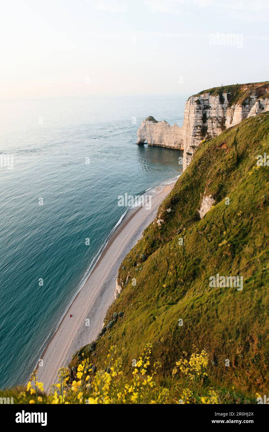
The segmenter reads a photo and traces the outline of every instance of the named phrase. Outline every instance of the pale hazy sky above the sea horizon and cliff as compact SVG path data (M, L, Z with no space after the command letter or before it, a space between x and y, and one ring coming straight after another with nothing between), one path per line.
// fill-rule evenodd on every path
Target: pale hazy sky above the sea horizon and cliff
M269 80L269 1L13 0L0 98L195 94Z

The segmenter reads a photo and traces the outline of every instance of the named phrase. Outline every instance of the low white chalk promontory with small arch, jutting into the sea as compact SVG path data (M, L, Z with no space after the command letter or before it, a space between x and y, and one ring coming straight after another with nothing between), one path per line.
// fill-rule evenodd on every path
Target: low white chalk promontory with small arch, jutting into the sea
M183 150L181 128L177 124L170 126L165 120L156 121L153 117L142 121L137 131L137 144L144 144L145 141L149 146Z

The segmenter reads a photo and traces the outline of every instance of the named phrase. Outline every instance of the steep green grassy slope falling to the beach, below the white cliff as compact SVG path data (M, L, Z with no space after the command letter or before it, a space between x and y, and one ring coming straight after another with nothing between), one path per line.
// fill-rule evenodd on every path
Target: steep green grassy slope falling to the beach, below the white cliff
M82 351L102 366L115 343L127 350L128 373L150 341L154 359L163 364L163 379L169 380L176 360L183 351L192 353L194 344L208 351L209 379L217 385L233 384L250 394L268 390L269 167L249 175L256 156L269 154L268 133L269 113L264 113L200 144L159 208L165 222L161 227L153 222L120 267L120 279L129 276L129 281L106 322L114 312L123 311L123 317L98 340L93 356L86 346L71 366ZM200 220L205 190L216 203ZM184 246L178 245L180 237ZM227 244L219 247L224 239ZM209 276L216 273L243 276L243 291L209 288Z

